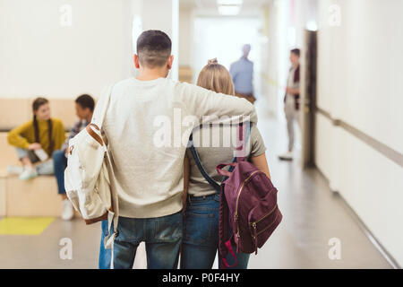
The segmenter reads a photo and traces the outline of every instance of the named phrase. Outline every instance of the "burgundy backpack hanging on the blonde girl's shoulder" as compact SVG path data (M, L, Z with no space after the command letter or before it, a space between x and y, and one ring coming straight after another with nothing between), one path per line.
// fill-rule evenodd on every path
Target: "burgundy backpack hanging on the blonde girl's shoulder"
M247 128L244 128L247 126ZM244 133L244 129L246 133ZM236 245L236 253L257 254L271 233L279 226L282 214L277 204L277 189L262 171L246 161L244 147L250 132L250 125L240 125L236 158L231 163L221 163L217 171L225 178L219 185L206 173L200 158L193 147L190 150L201 174L220 193L219 203L219 255L222 265L234 267L237 264L232 243ZM243 135L245 139L243 140ZM191 141L192 142L192 141ZM230 166L229 170L223 170ZM232 234L229 236L229 224ZM234 265L227 264L227 252L235 258Z

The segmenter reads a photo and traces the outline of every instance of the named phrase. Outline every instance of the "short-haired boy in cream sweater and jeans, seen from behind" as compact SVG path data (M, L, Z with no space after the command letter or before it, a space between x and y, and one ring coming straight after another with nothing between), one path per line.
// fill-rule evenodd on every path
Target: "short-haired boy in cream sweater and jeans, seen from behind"
M256 122L247 100L167 79L173 60L166 33L142 32L134 55L140 74L116 83L111 93L103 129L116 182L123 190L118 192L115 268L133 267L141 241L148 268L177 268L184 153L193 128L210 123L212 117L221 118L213 123L229 124L244 116ZM182 124L186 127L181 129ZM107 257L105 252L101 247L100 259Z

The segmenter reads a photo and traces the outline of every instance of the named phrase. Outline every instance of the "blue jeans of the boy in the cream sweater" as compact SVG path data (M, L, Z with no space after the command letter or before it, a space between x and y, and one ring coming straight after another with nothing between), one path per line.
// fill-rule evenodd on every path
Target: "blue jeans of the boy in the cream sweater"
M102 222L103 230L106 227L104 224ZM114 244L114 267L132 269L137 248L144 241L148 269L176 269L182 243L182 228L181 212L155 218L119 216L119 234ZM102 237L107 235L107 228L105 230ZM109 266L107 259L110 261L110 250L103 248L99 252L99 268Z

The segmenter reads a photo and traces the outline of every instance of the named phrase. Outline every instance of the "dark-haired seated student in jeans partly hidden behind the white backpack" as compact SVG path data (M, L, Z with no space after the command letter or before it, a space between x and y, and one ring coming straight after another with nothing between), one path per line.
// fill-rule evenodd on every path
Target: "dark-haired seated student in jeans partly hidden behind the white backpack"
M83 94L75 100L75 112L80 118L73 126L72 132L64 142L62 149L53 153L53 163L57 180L58 193L63 198L62 219L69 221L74 216L73 205L67 198L64 190L64 170L67 167L67 156L69 141L83 128L90 124L95 102L90 95Z

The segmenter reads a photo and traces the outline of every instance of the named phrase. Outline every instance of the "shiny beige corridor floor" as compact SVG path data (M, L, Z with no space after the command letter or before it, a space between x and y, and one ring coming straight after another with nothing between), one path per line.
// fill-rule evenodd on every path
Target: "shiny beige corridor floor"
M391 268L318 170L278 160L287 147L286 125L259 114L283 221L249 268ZM64 238L72 239L72 259L59 256ZM40 235L0 235L0 268L97 268L99 239L100 224L86 226L79 218L56 219ZM339 240L339 259L330 259L330 239Z

